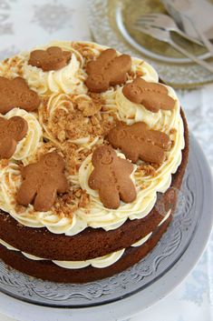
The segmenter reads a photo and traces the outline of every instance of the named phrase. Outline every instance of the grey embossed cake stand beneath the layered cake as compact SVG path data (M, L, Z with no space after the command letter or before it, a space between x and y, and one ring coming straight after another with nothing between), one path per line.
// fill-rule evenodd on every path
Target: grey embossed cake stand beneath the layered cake
M212 195L207 160L190 135L177 211L148 256L116 276L85 285L44 282L0 262L1 312L23 321L94 321L98 316L111 321L151 306L179 285L203 253L213 223Z

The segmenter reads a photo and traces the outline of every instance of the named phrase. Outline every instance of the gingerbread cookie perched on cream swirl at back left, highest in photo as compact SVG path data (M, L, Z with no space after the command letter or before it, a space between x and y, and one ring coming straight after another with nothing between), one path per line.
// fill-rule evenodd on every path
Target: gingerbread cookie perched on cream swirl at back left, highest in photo
M32 51L28 64L42 68L44 71L58 70L67 65L71 55L71 52L63 51L58 46L50 46L46 50Z

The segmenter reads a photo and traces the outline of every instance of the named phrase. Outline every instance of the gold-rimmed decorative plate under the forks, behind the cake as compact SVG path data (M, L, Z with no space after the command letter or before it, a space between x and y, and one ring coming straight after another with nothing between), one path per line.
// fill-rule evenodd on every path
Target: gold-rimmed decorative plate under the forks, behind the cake
M210 0L213 3L213 0ZM132 28L140 15L166 13L160 0L89 0L88 16L94 40L123 53L144 58L153 65L162 80L175 87L196 87L213 81L213 74L200 65L190 63L170 45ZM204 47L172 33L173 39L190 53L209 57ZM140 47L140 51L138 48ZM213 58L208 59L213 64Z

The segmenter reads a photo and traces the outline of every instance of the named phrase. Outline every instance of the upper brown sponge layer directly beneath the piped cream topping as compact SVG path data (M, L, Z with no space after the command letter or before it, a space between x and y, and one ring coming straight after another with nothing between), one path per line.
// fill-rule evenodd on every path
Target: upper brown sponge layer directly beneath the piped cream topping
M174 191L179 190L181 186L189 155L189 132L186 118L182 111L181 116L184 123L185 136L182 162L178 171L172 175L171 186L166 193L159 195L156 205L148 216L141 219L128 219L121 227L107 232L102 228L88 227L76 236L64 236L63 234L53 234L45 227L22 226L12 216L1 211L0 238L9 245L34 256L62 261L82 261L105 256L121 248L128 248L143 236L147 236L157 228L163 218L158 208L161 208L163 204L167 212L170 208L174 209L177 203L178 193L174 193ZM131 251L132 253L134 252L133 249ZM64 280L65 278L66 276L64 276Z

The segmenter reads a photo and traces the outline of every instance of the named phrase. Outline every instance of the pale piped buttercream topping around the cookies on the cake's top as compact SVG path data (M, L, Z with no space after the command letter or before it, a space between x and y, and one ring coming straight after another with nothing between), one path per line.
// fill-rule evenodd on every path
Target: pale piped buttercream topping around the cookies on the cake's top
M100 55L100 52L106 48L102 45L96 45L93 43L84 43L84 45L85 44L86 49L91 51L92 55L94 56ZM52 73L53 75L49 74L51 72L44 73L39 68L27 66L28 69L26 69L29 72L27 74L24 68L27 65L29 54L17 56L19 57L20 62L22 62L22 64L20 62L17 63L17 70L20 69L20 64L23 65L23 70L25 70L26 73L24 74L24 77L28 84L34 87L34 90L36 90L39 94L44 95L44 93L48 93L49 95L51 93L50 96L53 95L54 104L53 109L50 111L50 117L52 115L51 113L54 113L54 110L57 107L56 105L61 104L59 101L57 101L55 92L59 91L63 95L63 99L65 99L65 95L67 95L64 94L66 93L66 86L70 87L71 85L73 92L77 93L78 86L76 86L76 84L78 84L78 82L76 83L74 79L76 77L81 83L82 74L84 73L84 69L82 68L82 65L84 64L84 58L79 52L73 49L72 43L54 42L51 45L59 45L63 48L63 50L71 50L73 52L73 61L71 60L70 62L70 64L74 64L72 72L68 72L68 70L66 71L66 68L69 69L70 65L67 65L61 70L54 72L54 74ZM131 70L133 72L137 71L140 73L141 77L147 81L158 82L158 74L149 64L138 58L131 58L131 61ZM36 69L32 71L31 67ZM10 68L7 71L10 73L8 76L15 76L17 74L17 70L15 69L15 66ZM33 74L30 72L30 70ZM3 73L3 75L5 75L5 69L1 69L1 65L0 71ZM42 73L44 73L44 75ZM61 74L56 75L56 73ZM30 82L32 83L30 84ZM36 84L41 85L42 89L37 87ZM111 210L102 206L98 193L90 189L88 186L88 178L92 172L92 155L89 155L82 163L79 173L75 176L68 177L74 186L81 186L82 189L85 189L90 195L90 207L86 211L83 208L78 208L75 212L73 212L73 217L70 217L58 216L53 210L48 212L35 212L34 206L32 205L29 205L26 208L19 208L19 210L17 210L15 195L19 186L21 185L21 174L19 166L15 164L13 159L10 160L7 166L0 166L0 208L10 213L15 220L24 226L45 226L54 234L64 233L67 236L76 235L88 226L91 226L92 228L102 227L104 230L108 231L118 228L128 218L132 220L147 216L156 203L157 193L164 193L169 188L171 183L171 175L176 173L181 163L181 150L184 148L184 130L183 122L180 116L179 100L173 89L171 89L169 86L167 86L167 88L169 90L169 95L176 100L175 108L171 111L160 110L158 113L151 113L142 105L131 103L131 101L122 95L121 87L119 86L110 88L105 93L102 93L102 98L105 102L104 111L102 113L107 114L112 112L117 115L120 120L127 124L144 121L150 125L150 128L158 129L169 134L170 138L173 140L173 145L167 155L167 160L156 171L156 175L154 177L141 175L141 173L137 171L134 172L132 179L134 180L137 189L137 198L134 202L131 204L121 203L121 206L118 210ZM84 89L82 91L84 92ZM33 113L26 114L28 117L34 116ZM31 142L38 142L38 137L40 136L39 126L40 125L37 126L37 123L34 126L32 133L35 134L32 134L32 138L29 139L29 144L31 144ZM172 130L172 134L170 133L170 130ZM82 137L75 143L83 145L83 148L87 149L90 149L91 144L93 144L88 141L88 137ZM19 144L21 146L20 151L22 150L24 154L22 155L22 153L19 153L18 156L21 157L20 159L24 164L27 164L28 155L31 155L33 150L37 150L39 144L32 144L34 148L32 147L33 150L29 149L29 153L27 151L29 145L24 145L24 140ZM94 144L100 144L99 139L95 141ZM22 145L25 146L25 149L22 148Z

